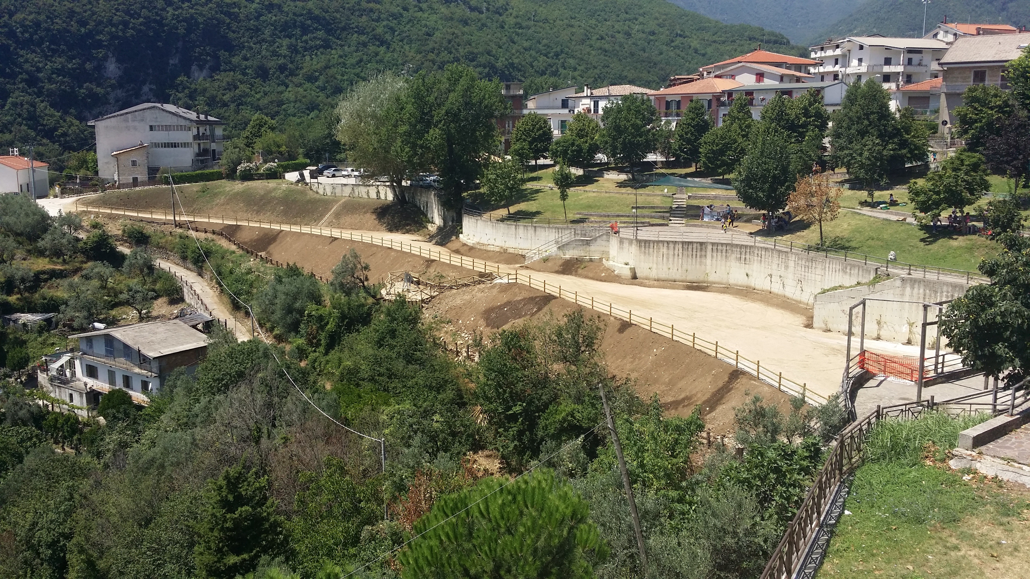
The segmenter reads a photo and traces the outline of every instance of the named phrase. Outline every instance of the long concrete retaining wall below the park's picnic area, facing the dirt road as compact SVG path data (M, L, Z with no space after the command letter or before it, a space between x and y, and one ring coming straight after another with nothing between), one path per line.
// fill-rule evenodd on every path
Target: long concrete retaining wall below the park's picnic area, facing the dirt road
M868 281L874 266L819 253L710 241L610 237L610 260L633 266L639 279L732 285L769 292L812 305L834 285Z

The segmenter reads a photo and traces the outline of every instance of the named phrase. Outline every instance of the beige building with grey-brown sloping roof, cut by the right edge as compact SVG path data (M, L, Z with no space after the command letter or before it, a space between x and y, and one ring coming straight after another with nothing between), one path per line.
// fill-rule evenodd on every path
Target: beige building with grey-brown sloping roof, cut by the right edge
M940 122L946 132L955 125L954 111L962 106L962 95L974 84L1008 90L1005 66L1020 58L1030 44L1030 34L964 36L955 40L940 59Z

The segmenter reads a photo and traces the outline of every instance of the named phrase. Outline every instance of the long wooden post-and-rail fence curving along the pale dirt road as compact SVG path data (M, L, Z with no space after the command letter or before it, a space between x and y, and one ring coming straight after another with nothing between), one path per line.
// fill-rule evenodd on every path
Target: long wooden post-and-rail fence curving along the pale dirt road
M150 209L131 209L125 207L107 207L107 206L97 206L97 205L78 205L78 210L81 211L93 211L98 213L109 213L115 215L126 215L126 216L137 216L144 218L156 218L156 219L171 219L172 213L168 211L156 211ZM414 253L416 256L426 258L430 260L437 260L446 264L459 266L468 268L474 271L482 272L492 272L496 274L509 274L518 283L523 283L533 287L535 290L541 290L545 294L550 294L558 298L570 300L573 303L588 307L594 311L607 313L608 315L624 319L629 323L639 326L641 328L647 328L648 331L658 334L659 336L664 336L674 341L680 342L682 344L687 344L690 347L707 353L709 355L715 356L727 364L732 365L737 370L751 374L759 380L776 386L777 389L790 394L792 396L801 397L805 402L823 404L826 402L826 397L809 390L808 383L797 382L783 375L783 372L774 371L768 366L762 366L761 361L750 360L744 355L741 355L739 349L731 349L725 345L719 344L718 341L710 341L697 336L693 332L685 332L682 329L675 328L673 323L664 323L660 320L654 319L652 316L643 316L639 313L633 313L630 309L623 309L615 306L611 302L602 302L589 296L580 296L578 292L569 292L562 290L561 285L555 285L553 283L548 283L546 279L540 279L539 275L537 279L533 278L533 274L523 273L522 271L516 270L513 267L502 266L501 264L491 264L484 262L482 260L475 260L473 258L468 258L457 253L451 253L449 251L441 249L433 249L426 246L426 244L417 244L412 242L405 242L400 239L393 239L390 237L376 237L373 235L367 235L364 233L354 233L351 231L334 229L334 228L322 228L317 226L303 226L303 225L293 225L293 224L281 224L275 222L265 222L261 219L246 219L239 217L231 217L225 215L211 215L211 214L196 214L196 213L178 213L176 212L176 218L182 219L184 222L200 222L208 224L225 224L225 225L240 225L249 227L259 227L266 229L274 229L280 231L293 231L298 233L310 233L313 235L321 235L327 237L332 237L336 239L348 239L350 241L359 241L363 243L371 243L373 245L380 245L382 247L388 247L390 249L397 249L400 251L406 251L409 253ZM217 231L217 230L212 230ZM225 237L231 239L228 234L220 233ZM239 242L232 240L238 245ZM279 265L279 262L274 260L269 260L265 256L261 256L258 252L251 252L251 254L261 257L262 259ZM322 279L319 277L319 279Z

